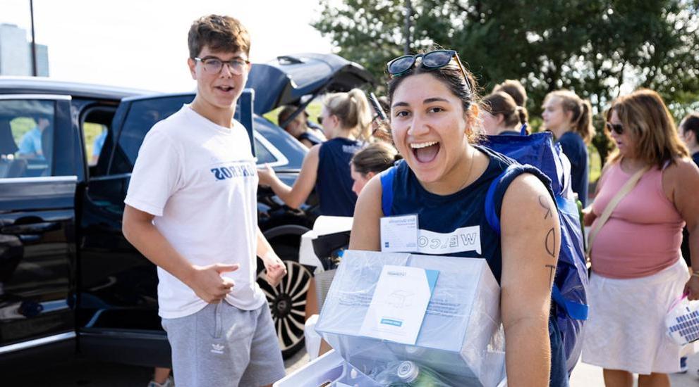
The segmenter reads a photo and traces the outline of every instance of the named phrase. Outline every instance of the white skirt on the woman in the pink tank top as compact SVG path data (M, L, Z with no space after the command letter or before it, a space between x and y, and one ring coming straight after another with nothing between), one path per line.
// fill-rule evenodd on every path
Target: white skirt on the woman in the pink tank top
M689 279L683 259L648 277L592 274L583 362L635 374L679 372L681 346L665 333L665 315Z

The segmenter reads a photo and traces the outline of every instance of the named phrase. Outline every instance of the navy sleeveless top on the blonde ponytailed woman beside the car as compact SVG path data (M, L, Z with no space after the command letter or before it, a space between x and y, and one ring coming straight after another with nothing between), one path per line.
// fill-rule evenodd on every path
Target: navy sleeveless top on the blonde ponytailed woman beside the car
M350 175L350 160L364 146L362 141L337 138L320 146L315 190L320 201L320 214L353 216L357 195Z

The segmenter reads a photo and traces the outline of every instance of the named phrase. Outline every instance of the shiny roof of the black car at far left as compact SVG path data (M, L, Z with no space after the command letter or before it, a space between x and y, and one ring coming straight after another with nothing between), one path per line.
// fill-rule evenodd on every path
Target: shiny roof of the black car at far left
M0 77L0 94L62 94L92 99L121 100L128 96L155 94L156 91L126 87L65 82L45 77Z

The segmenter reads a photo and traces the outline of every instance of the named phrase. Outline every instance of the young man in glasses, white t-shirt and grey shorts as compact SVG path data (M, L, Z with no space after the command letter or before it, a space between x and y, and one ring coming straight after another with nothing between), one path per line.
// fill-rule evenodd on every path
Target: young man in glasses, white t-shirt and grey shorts
M197 95L145 137L123 234L158 267L177 385L270 385L284 363L255 256L272 286L286 269L257 227L255 159L233 120L250 35L234 18L209 15L193 23L188 42Z

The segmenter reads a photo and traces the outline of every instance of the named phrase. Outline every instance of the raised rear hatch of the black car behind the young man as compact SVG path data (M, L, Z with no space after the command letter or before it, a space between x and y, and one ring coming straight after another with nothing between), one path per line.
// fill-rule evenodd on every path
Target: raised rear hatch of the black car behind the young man
M371 73L357 63L332 53L298 53L254 63L245 87L255 89L255 113L298 103L319 91L349 91L374 84Z

